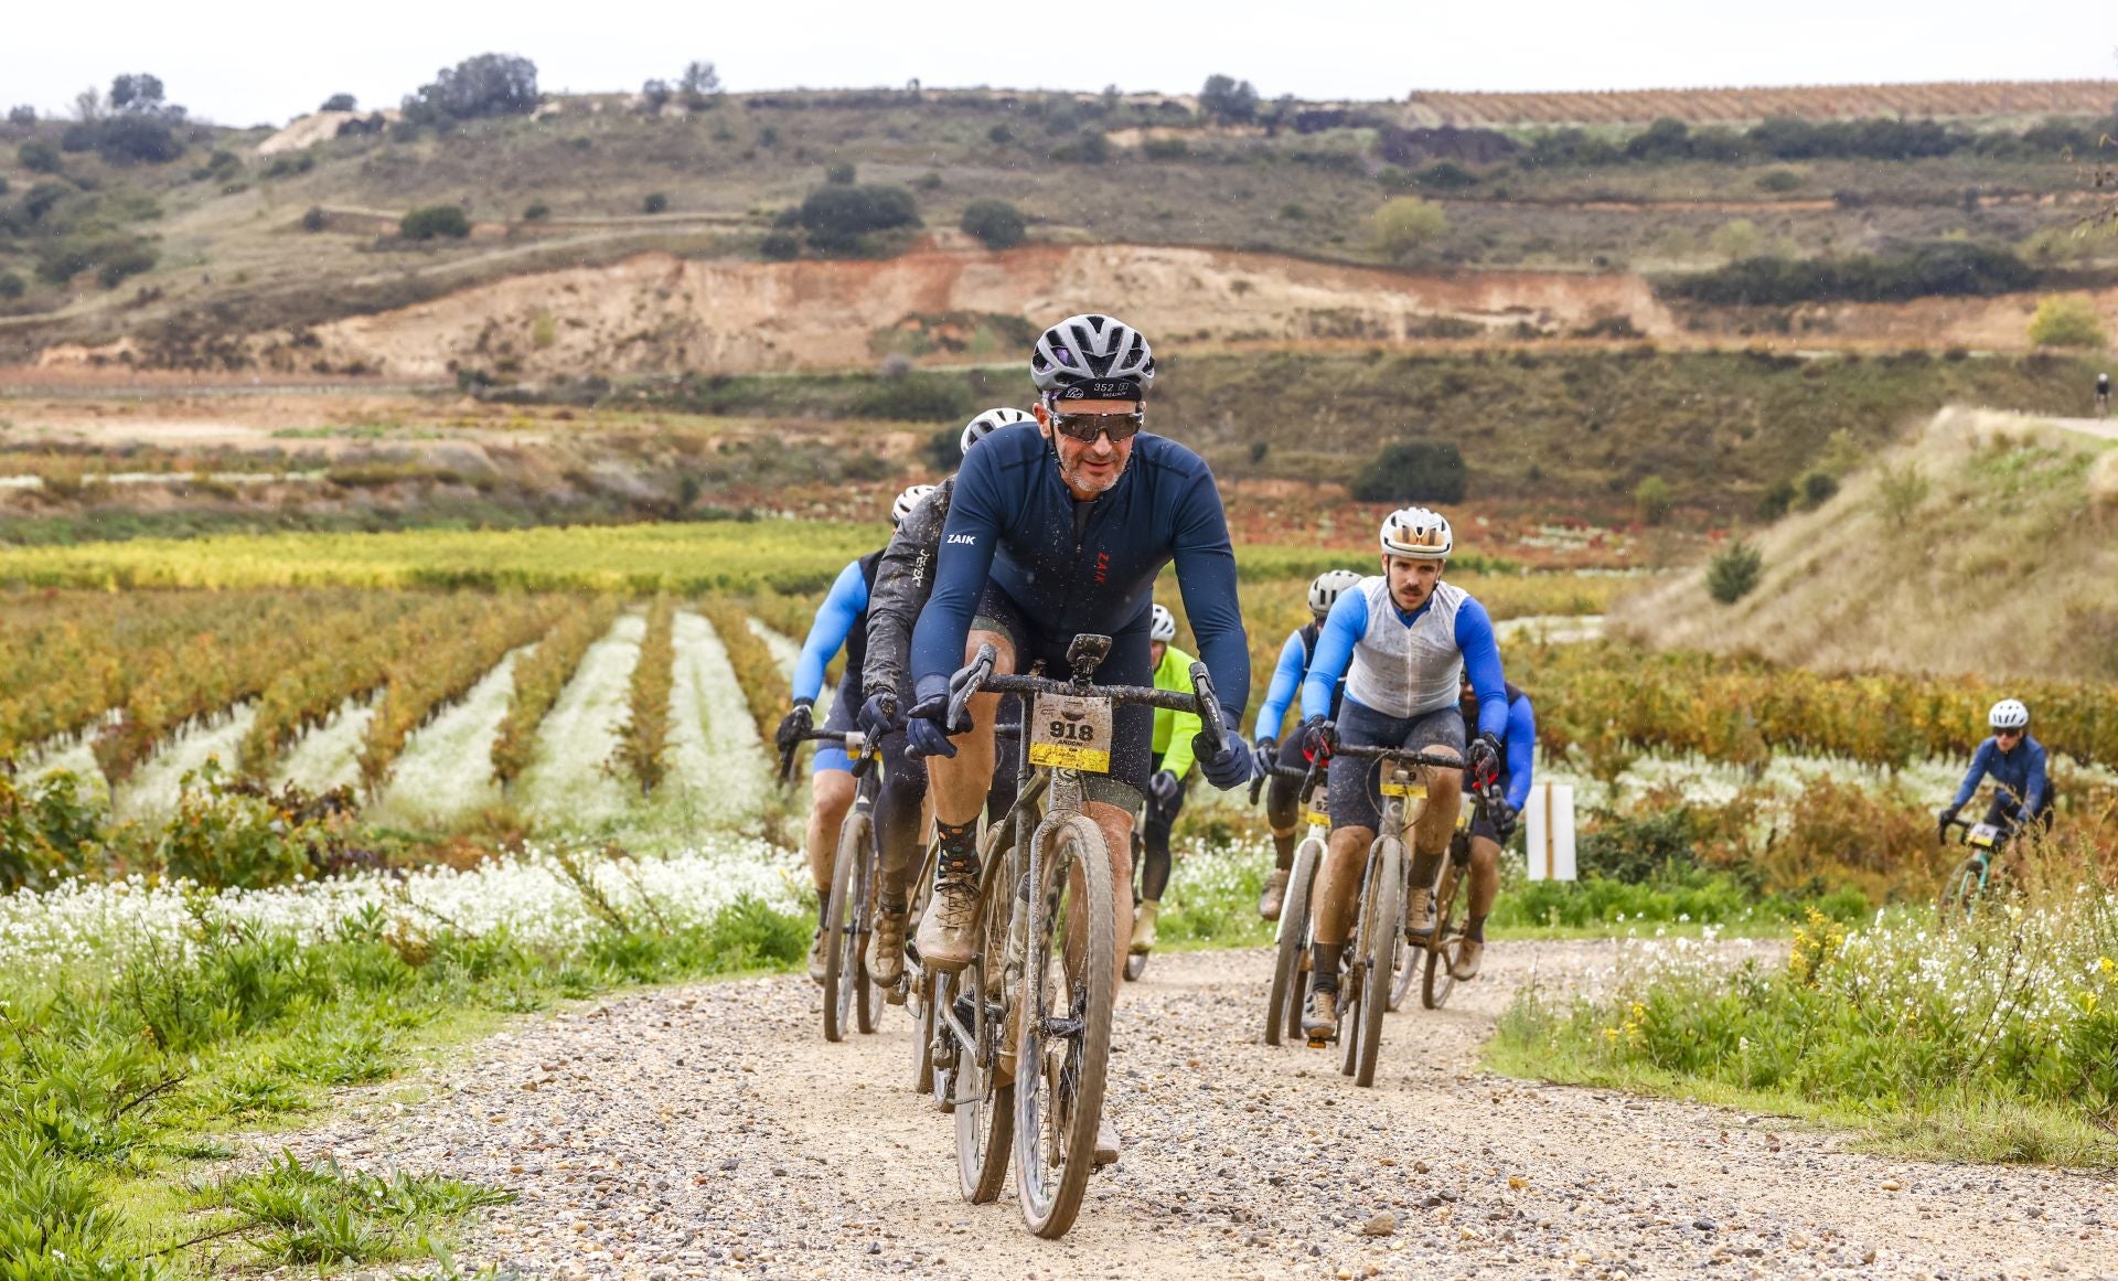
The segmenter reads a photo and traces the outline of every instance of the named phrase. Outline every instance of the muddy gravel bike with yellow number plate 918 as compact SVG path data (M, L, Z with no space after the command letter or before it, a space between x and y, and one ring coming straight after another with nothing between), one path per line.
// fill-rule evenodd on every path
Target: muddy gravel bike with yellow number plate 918
M1190 694L1091 684L1108 654L1108 635L1076 635L1065 652L1072 678L1048 680L1038 669L995 675L995 652L981 646L949 682L947 724L964 724L976 692L1021 694L1029 705L1019 798L981 841L983 942L955 982L936 985L938 1033L951 1042L936 1050L936 1082L953 1057L966 1196L1000 1194L1012 1124L1017 1201L1046 1239L1074 1226L1095 1171L1118 982L1110 849L1087 813L1082 775L1110 773L1112 711L1123 705L1197 711L1209 752L1226 733L1203 663L1192 665ZM953 999L940 999L943 987ZM1008 1095L1012 1120L1002 1116Z

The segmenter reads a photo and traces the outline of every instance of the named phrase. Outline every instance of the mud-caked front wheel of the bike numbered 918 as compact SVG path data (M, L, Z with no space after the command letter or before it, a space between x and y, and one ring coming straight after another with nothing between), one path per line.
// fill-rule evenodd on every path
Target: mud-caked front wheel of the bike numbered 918
M1080 900L1074 900L1072 889L1076 868ZM1095 1131L1103 1118L1110 1073L1110 1014L1118 995L1118 923L1110 898L1110 851L1101 828L1089 817L1067 815L1046 830L1038 872L1040 883L1029 896L1021 1040L1015 1054L1015 1192L1023 1224L1053 1241L1074 1226L1089 1175L1095 1173ZM1065 974L1059 921L1067 910L1087 910L1089 917L1078 978ZM1063 1014L1051 1004L1055 963L1067 1002ZM1048 1063L1055 1042L1046 1040L1046 1021L1055 1014L1078 1023L1078 1031L1065 1038L1072 1046L1061 1059Z

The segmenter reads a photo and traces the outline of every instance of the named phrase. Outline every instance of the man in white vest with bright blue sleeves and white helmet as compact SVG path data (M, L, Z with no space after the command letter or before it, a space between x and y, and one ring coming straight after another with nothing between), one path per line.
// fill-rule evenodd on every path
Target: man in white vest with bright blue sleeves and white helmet
M1413 828L1413 891L1404 927L1434 936L1434 874L1449 855L1461 788L1500 777L1500 737L1508 730L1508 686L1500 671L1493 620L1468 591L1442 582L1455 536L1440 512L1411 506L1383 521L1383 574L1339 595L1324 620L1315 663L1303 680L1303 737L1330 758L1343 739L1362 747L1402 747L1461 756L1466 769L1428 771L1428 807ZM1478 694L1478 737L1464 750L1457 699L1464 673ZM1345 675L1345 703L1330 705ZM1339 1031L1339 961L1353 927L1362 864L1381 822L1379 766L1330 773L1330 845L1317 872L1315 953L1303 1031L1311 1042Z

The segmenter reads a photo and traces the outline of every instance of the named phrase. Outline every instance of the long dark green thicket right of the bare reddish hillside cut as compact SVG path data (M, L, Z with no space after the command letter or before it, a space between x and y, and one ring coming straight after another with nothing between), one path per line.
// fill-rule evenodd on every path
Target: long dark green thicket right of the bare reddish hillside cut
M1936 241L1877 258L1743 258L1718 271L1665 279L1658 290L1720 307L1794 303L1904 303L1929 296L2012 294L2038 271L2010 254L1966 241Z

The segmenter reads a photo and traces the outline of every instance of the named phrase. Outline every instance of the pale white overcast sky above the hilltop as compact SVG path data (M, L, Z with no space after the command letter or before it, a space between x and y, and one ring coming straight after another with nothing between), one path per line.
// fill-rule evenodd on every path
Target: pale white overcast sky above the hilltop
M449 0L0 0L0 106L66 108L116 72L227 125L284 123L330 93L394 106L485 51L546 91L638 89L712 59L729 89L1197 89L1267 97L1413 89L1641 89L2118 78L2114 0L811 0L460 4Z

